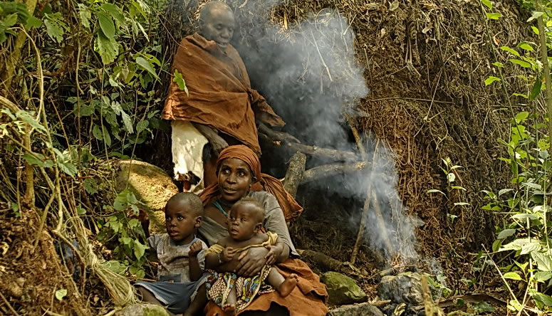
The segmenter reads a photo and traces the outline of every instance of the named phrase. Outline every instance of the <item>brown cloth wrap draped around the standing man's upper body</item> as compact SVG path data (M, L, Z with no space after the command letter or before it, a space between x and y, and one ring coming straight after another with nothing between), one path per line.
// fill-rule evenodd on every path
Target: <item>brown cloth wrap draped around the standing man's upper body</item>
M213 127L261 153L255 119L271 126L285 123L266 100L251 89L239 53L231 45L223 52L198 33L185 37L175 54L172 74L182 74L189 95L171 82L162 118L189 120Z

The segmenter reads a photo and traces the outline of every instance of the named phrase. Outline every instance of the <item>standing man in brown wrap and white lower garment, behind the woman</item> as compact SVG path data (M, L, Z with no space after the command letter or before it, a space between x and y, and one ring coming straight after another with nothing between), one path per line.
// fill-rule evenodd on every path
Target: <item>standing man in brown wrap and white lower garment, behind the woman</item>
M162 118L172 120L175 179L184 181L184 191L199 193L216 181L216 156L229 144L245 144L261 154L256 120L285 124L251 89L244 62L230 45L234 23L229 6L220 1L206 4L198 33L182 40L172 65L172 73L182 74L188 91L171 83ZM204 165L208 142L214 157Z

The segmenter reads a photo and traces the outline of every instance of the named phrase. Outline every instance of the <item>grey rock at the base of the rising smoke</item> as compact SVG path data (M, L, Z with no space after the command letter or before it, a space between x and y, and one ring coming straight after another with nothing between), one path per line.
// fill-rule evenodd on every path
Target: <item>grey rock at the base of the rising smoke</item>
M405 272L386 275L377 285L377 295L382 300L392 300L396 304L422 305L422 276L420 273Z

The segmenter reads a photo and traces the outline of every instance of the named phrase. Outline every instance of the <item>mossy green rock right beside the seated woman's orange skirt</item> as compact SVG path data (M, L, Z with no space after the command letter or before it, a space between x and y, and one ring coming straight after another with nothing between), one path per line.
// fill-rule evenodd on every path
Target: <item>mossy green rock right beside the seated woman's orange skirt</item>
M330 271L323 273L320 280L328 287L330 305L351 304L366 299L366 293L347 275Z

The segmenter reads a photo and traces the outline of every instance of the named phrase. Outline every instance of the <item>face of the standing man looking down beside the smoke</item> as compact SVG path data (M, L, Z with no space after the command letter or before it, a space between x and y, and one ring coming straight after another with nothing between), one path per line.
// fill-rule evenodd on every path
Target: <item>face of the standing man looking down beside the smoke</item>
M207 41L214 41L224 51L234 35L234 14L227 8L214 7L207 12L199 33Z

